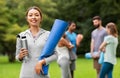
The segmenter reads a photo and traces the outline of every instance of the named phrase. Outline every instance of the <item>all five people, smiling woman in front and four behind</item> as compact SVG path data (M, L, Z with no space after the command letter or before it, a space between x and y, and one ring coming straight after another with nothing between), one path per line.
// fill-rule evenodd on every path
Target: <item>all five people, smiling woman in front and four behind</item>
M54 49L54 54L38 60L50 32L41 28L42 12L38 7L32 6L28 8L26 20L29 28L19 33L19 36L26 36L28 49L22 48L19 38L17 38L16 42L16 59L22 62L20 78L50 78L49 74L44 75L42 66L48 65L54 60L57 60L60 66L61 78L74 78L76 57L74 57L74 60L71 60L73 58L70 57L70 53L76 56L77 48L83 39L83 35L74 32L76 24L69 22L68 29ZM91 55L94 59L97 76L98 78L104 78L103 76L107 74L108 78L112 78L113 66L116 63L116 47L118 44L116 25L114 23L108 23L105 29L102 26L102 21L99 16L93 17L93 25L96 29L92 32L91 37ZM97 56L93 55L95 51L99 52ZM102 68L98 63L101 51L105 52ZM28 56L28 59L25 59L25 56Z

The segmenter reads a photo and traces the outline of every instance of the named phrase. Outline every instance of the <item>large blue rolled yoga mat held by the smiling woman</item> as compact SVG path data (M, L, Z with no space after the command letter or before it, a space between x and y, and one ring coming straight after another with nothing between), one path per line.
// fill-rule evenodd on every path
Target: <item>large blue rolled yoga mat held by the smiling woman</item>
M56 19L54 21L50 35L49 35L49 37L46 41L46 44L41 52L39 60L41 60L43 58L47 58L54 53L54 49L55 49L58 41L64 34L67 26L68 26L68 23L63 20ZM43 74L44 75L48 74L48 68L49 68L49 65L43 66L43 72L44 72Z

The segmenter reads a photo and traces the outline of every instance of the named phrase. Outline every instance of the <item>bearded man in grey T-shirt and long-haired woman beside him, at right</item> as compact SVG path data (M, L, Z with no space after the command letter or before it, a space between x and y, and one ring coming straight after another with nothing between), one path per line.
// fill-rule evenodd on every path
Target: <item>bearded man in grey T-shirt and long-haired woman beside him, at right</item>
M112 78L118 45L116 25L113 22L109 22L106 28L104 28L100 16L93 17L93 25L96 29L91 34L90 51L93 58L93 65L97 72L97 78ZM94 52L98 52L97 55ZM104 62L102 65L98 62L101 52L104 52Z

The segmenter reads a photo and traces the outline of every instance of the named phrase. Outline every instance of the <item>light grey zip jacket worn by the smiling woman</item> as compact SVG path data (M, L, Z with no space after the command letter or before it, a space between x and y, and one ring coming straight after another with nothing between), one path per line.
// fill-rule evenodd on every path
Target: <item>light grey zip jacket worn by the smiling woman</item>
M21 67L21 72L20 72L20 78L49 78L48 76L36 76L35 73L35 65L38 62L38 58L41 54L41 51L46 43L46 40L49 36L49 31L46 31L44 29L40 29L39 33L37 36L34 38L32 36L32 33L30 30L26 30L24 32L21 32L19 35L20 36L26 36L27 38L27 43L28 43L28 59L23 59L22 60L22 67ZM20 49L22 48L21 43L20 43L20 38L17 38L16 42L16 59L18 59ZM49 64L51 61L56 60L57 55L56 52L46 58L46 64Z

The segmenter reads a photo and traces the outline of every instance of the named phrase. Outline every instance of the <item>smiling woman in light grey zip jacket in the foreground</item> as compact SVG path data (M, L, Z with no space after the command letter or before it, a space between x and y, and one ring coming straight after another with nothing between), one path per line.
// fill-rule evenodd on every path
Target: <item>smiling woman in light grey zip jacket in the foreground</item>
M28 8L26 20L29 28L19 33L19 37L26 36L28 49L22 48L20 38L16 42L16 59L22 62L19 78L49 78L49 75L37 75L35 72L35 65L50 33L41 28L41 10L37 6ZM28 56L27 60L24 59L25 56ZM45 60L46 63L50 61Z

